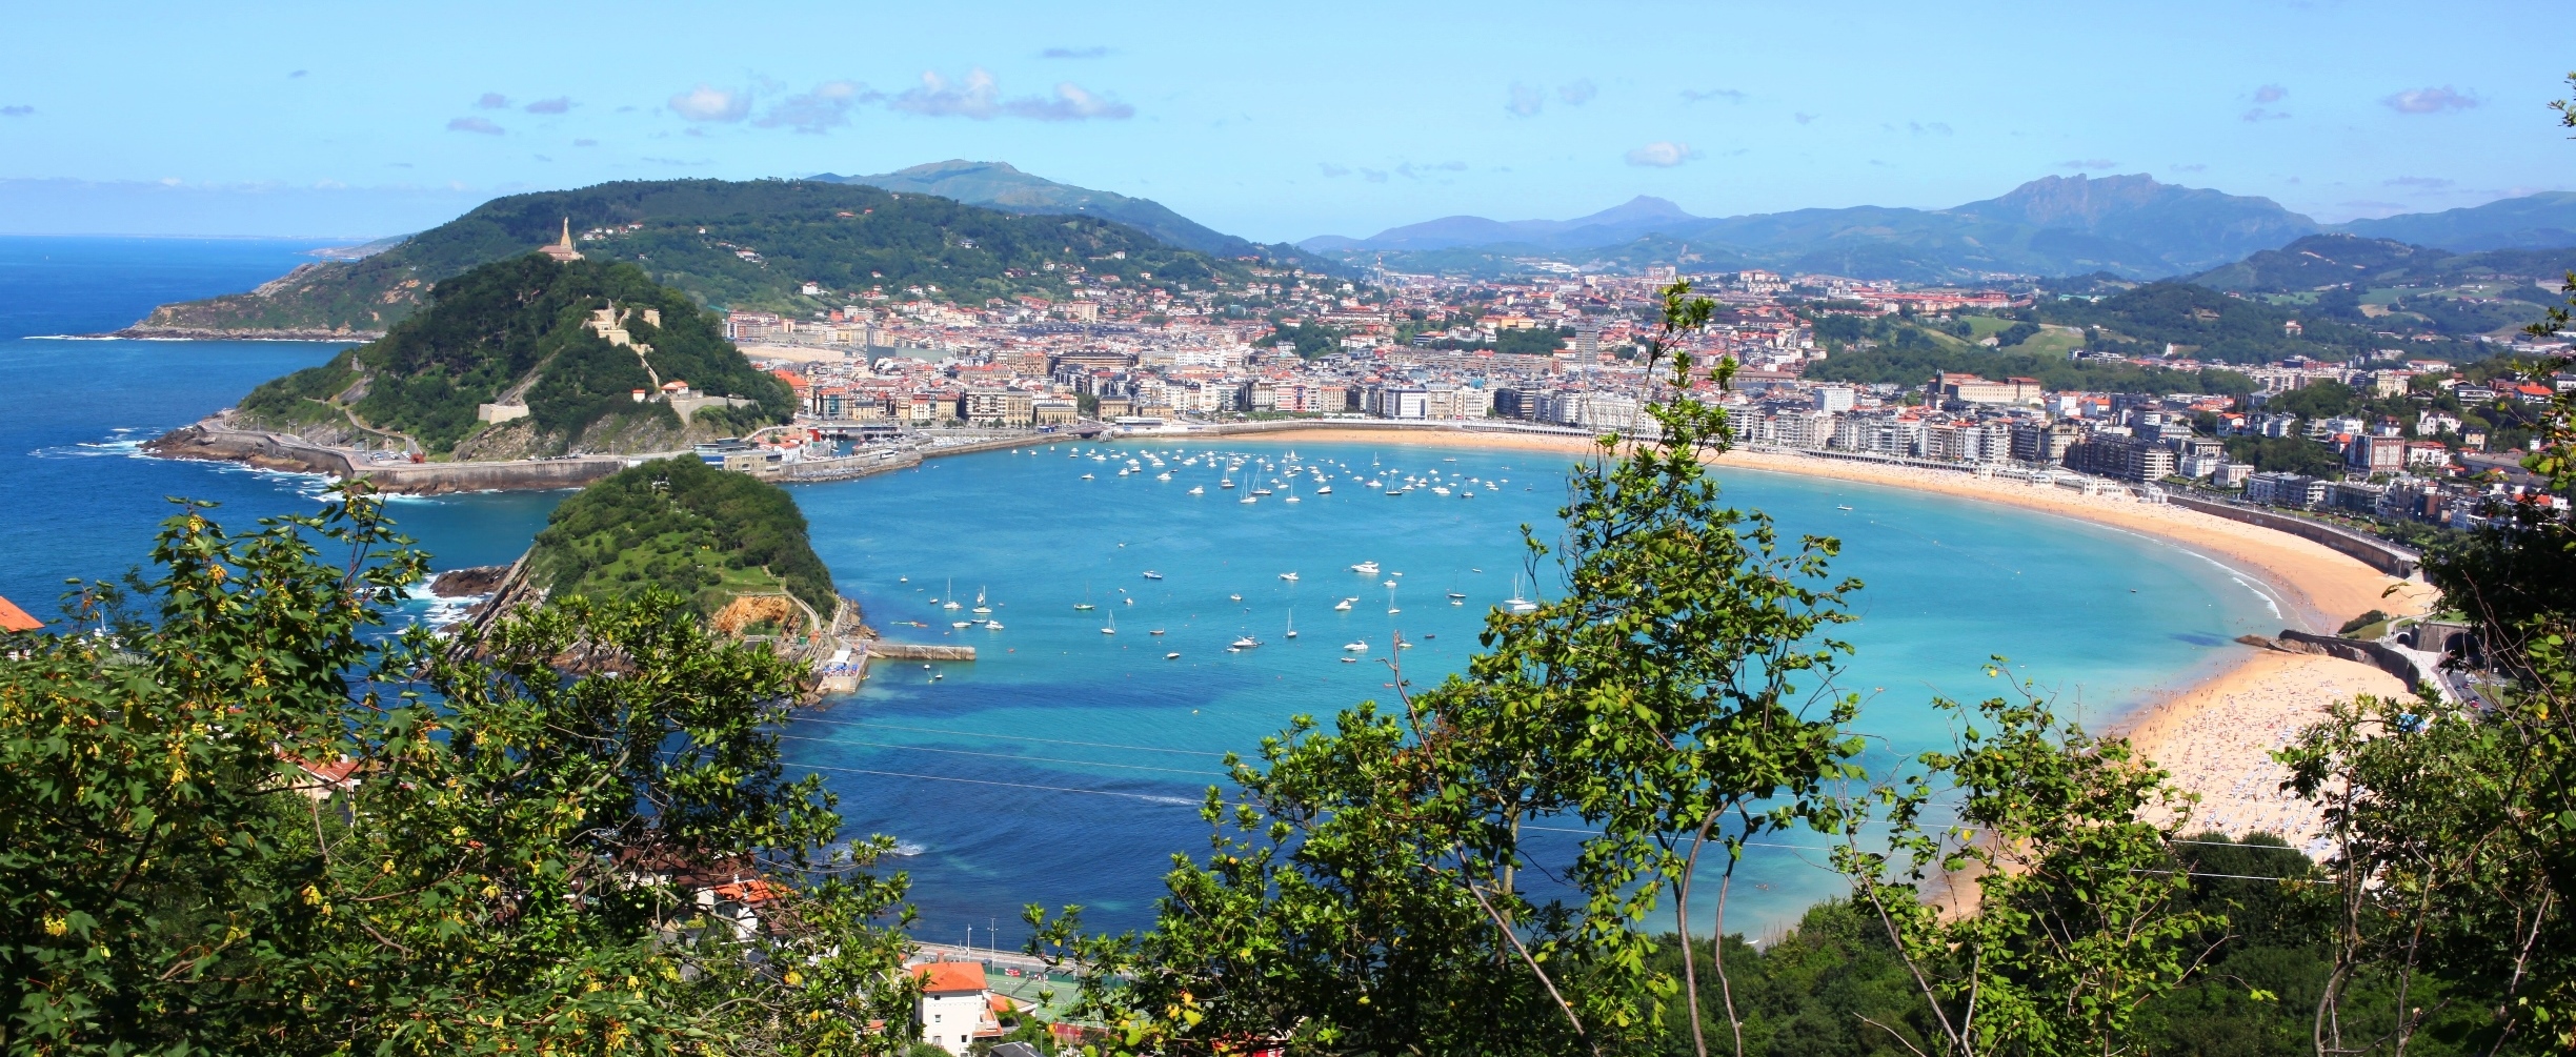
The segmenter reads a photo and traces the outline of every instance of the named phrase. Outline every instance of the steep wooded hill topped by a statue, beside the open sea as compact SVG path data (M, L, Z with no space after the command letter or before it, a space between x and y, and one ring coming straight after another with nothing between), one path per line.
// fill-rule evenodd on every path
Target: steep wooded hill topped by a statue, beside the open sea
M595 316L603 309L608 327ZM732 401L683 417L634 399L675 381ZM526 417L482 422L482 404L523 404ZM711 311L641 267L526 255L440 280L425 311L252 388L234 414L332 445L526 458L672 450L793 411L788 386L755 370Z

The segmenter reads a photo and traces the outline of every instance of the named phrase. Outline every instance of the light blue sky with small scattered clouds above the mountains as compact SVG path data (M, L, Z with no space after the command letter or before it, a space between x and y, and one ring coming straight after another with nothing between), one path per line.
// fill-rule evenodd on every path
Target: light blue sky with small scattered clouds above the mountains
M0 234L381 237L600 180L1010 162L1260 242L2146 172L2568 190L2548 3L15 5Z

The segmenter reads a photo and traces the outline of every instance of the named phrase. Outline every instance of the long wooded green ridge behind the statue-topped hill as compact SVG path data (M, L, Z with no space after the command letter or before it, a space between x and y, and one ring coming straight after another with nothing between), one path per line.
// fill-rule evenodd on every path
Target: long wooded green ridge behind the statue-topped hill
M420 311L433 283L556 242L567 224L585 257L631 262L703 306L796 316L871 296L1069 298L1074 267L1157 283L1247 275L1242 262L1097 216L1020 216L822 180L623 180L495 198L386 252L167 303L134 329L376 334ZM806 283L819 293L801 293Z

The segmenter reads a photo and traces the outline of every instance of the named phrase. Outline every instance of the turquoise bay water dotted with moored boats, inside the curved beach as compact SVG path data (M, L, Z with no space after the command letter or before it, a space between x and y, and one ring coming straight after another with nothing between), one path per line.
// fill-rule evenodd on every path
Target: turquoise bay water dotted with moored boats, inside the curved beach
M1396 630L1419 643L1404 651L1406 679L1461 669L1486 607L1512 597L1517 525L1553 525L1566 471L1564 455L1306 442L1301 460L1358 471L1376 460L1381 481L1440 471L1510 483L1476 486L1476 499L1391 499L1332 468L1329 496L1301 478L1298 504L1285 494L1242 504L1218 489L1221 463L1167 458L1172 481L1151 465L1121 478L1123 463L1077 450L1095 447L796 489L817 550L878 630L979 648L976 664L878 666L863 692L791 728L793 759L822 769L853 831L891 833L912 851L899 862L930 939L981 934L999 913L1010 941L1023 903L1084 903L1103 926L1146 921L1167 856L1206 846L1195 805L1221 777L1218 756L1252 751L1298 712L1391 700L1378 658ZM1288 445L1218 450L1280 460ZM1234 478L1249 486L1257 465ZM1935 694L1994 692L1981 674L1989 653L2107 720L2197 676L2233 635L2280 622L2208 558L2074 519L1754 471L1728 471L1726 494L1785 532L1842 538L1837 574L1868 584L1842 687L1870 697L1862 728L1880 764L1947 738L1927 707ZM1381 574L1352 574L1360 561ZM1288 571L1298 581L1283 581ZM1388 592L1388 579L1401 586ZM951 628L971 620L940 607L951 592L969 607L981 592L1005 628ZM1386 612L1388 594L1401 612ZM1337 612L1347 597L1358 602ZM1074 610L1084 599L1097 610ZM1103 635L1110 622L1115 635ZM1229 653L1247 633L1262 646ZM1355 640L1368 651L1342 651ZM1821 854L1759 849L1728 921L1759 931L1839 892L1811 862Z

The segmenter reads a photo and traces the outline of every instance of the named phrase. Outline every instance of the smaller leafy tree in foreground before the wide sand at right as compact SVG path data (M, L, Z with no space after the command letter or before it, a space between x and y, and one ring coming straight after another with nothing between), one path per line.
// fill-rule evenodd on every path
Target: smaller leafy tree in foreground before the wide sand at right
M1906 1044L2136 1052L2141 1008L2190 982L2210 954L2202 936L2226 926L2192 905L2174 856L2190 795L2125 741L2061 725L2027 687L1976 705L1958 748L1917 761L1875 790L1878 810L1837 818L1834 851L1929 1011L1932 1031Z

